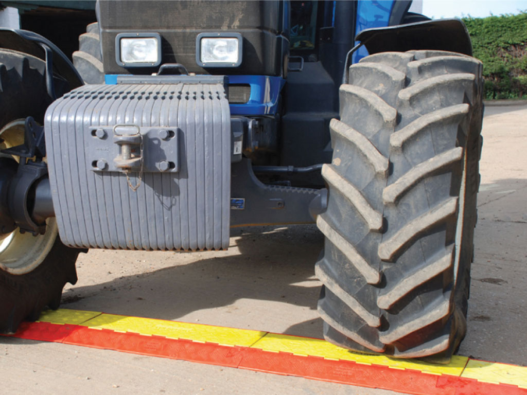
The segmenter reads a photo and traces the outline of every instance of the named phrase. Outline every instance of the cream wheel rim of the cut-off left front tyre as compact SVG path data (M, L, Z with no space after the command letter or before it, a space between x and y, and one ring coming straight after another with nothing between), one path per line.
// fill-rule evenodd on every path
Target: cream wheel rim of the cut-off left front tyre
M13 147L24 142L24 122L16 120L0 130L0 149ZM4 157L10 155L0 154ZM13 157L18 162L17 157ZM50 252L57 236L57 224L54 218L46 221L46 232L33 236L20 233L15 229L11 233L0 235L0 269L11 274L25 274L40 265Z

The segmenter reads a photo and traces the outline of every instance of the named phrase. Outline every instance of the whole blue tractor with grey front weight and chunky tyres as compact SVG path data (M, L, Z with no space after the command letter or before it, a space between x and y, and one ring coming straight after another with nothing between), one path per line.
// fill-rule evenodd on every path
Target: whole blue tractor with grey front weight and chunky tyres
M482 66L461 21L410 3L99 0L75 67L2 29L0 332L56 309L86 249L222 250L233 226L316 222L325 338L450 359Z

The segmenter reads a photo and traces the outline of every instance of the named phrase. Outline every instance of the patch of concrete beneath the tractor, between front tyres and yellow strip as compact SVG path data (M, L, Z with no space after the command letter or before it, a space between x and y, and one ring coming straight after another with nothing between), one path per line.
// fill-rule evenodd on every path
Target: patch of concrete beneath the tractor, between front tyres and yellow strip
M198 253L90 251L77 261L81 280L64 292L61 306L320 337L314 263L323 236L316 227L233 229L231 247ZM139 264L138 254L144 261ZM83 285L83 272L97 264L102 271L133 274ZM141 265L145 272L137 272Z

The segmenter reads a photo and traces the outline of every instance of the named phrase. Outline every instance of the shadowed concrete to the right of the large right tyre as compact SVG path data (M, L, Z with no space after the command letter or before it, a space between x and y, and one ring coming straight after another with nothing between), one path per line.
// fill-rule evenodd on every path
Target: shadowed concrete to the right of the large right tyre
M468 331L459 353L525 366L527 180L482 184L477 206Z

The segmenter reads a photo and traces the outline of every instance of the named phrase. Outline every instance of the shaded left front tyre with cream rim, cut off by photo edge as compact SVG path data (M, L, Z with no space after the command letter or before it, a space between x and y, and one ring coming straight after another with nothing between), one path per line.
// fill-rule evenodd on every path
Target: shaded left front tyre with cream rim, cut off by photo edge
M47 96L45 63L36 57L0 49L0 149L22 144L24 119L44 123L52 98ZM56 78L56 94L65 85ZM0 167L15 165L12 156L0 154ZM6 174L0 168L0 174ZM5 229L5 228L4 228ZM75 261L81 250L64 246L54 218L46 232L33 236L15 229L0 229L0 333L14 333L24 319L36 320L47 305L57 309L66 282L77 280Z

